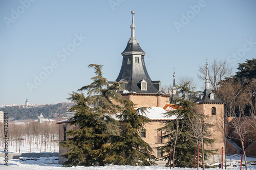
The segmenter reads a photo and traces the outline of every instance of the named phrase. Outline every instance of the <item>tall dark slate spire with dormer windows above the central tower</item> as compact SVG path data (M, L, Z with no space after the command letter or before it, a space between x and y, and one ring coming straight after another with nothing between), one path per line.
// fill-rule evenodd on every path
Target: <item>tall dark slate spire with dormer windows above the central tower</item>
M161 82L152 81L150 76L148 76L144 63L146 53L141 49L139 42L135 38L135 12L132 11L132 14L131 38L125 50L121 53L123 56L122 67L116 82L122 82L123 93L162 93L160 92Z

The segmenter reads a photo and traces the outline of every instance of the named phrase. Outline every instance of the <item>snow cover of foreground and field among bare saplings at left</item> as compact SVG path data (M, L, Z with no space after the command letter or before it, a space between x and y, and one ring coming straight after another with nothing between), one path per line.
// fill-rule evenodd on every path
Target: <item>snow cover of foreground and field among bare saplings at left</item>
M8 151L10 153L16 153L15 145L9 145ZM47 148L47 152L50 152L50 146ZM55 143L55 152L58 152L58 144ZM22 153L29 153L30 152L30 145L24 143L24 145L21 146L20 151ZM40 148L38 149L32 146L31 148L32 152L38 153L40 152ZM42 148L43 151L43 148ZM53 152L53 145L52 145L52 151ZM4 148L1 143L0 147L0 153L4 153ZM26 158L24 157L23 160L21 159L8 159L8 166L4 165L6 162L3 157L0 157L0 170L6 169L6 170L12 170L12 169L33 169L33 170L39 170L39 169L70 169L70 170L77 170L77 169L90 169L90 170L119 170L119 169L125 169L125 170L138 170L138 169L146 169L146 170L160 170L160 169L169 169L169 167L159 167L159 166L116 166L116 165L108 165L108 166L100 166L100 167L83 167L83 166L76 166L76 167L62 167L62 165L58 164L58 157L41 157L41 158ZM234 170L240 170L240 163L241 162L241 155L232 155L227 157L227 169L234 169ZM249 170L256 170L256 158L250 158L247 157L248 162L248 169ZM219 163L216 163L215 165L219 165ZM176 170L189 170L193 168L175 168ZM200 168L201 169L201 168ZM217 168L208 168L210 169L217 169ZM245 169L243 166L242 169Z

